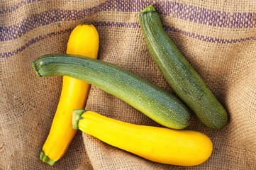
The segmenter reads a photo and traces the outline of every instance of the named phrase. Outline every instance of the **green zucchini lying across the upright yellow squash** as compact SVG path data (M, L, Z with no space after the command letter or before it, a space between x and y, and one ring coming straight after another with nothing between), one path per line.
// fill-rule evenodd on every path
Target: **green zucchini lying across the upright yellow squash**
M65 75L87 81L168 128L183 129L191 121L189 109L178 98L113 64L79 55L44 55L32 65L39 77Z

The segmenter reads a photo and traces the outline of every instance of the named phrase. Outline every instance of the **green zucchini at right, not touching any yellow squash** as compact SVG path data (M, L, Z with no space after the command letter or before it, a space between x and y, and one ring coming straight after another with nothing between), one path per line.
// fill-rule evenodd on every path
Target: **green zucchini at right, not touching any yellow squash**
M226 109L169 38L155 8L145 8L139 20L150 55L177 96L208 128L223 128L228 121Z

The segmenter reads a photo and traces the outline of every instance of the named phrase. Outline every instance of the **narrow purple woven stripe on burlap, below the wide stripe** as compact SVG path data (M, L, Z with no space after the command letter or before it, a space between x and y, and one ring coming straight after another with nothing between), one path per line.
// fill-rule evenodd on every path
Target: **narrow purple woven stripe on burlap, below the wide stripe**
M140 28L139 23L119 23L119 22L97 22L93 23L94 26L96 27L121 27L121 28ZM221 39L221 38L212 38L204 35L196 35L195 33L190 33L185 30L181 30L179 28L174 28L170 26L163 26L166 31L172 31L172 32L177 32L181 33L183 35L187 35L190 38L195 38L197 40L202 40L204 42L213 42L213 43L221 43L221 44L230 44L230 43L236 43L236 42L244 42L247 40L256 40L256 37L250 37L250 38L240 38L240 39L231 39L231 40L226 40L226 39ZM57 32L52 32L48 33L43 36L38 36L37 38L33 38L32 40L29 40L25 45L21 46L17 50L14 50L12 52L4 52L0 53L0 58L5 58L5 57L11 57L13 55L17 55L19 52L22 52L25 50L27 47L30 45L33 45L35 42L38 42L40 40L44 40L46 38L50 38L55 35L61 35L64 33L71 33L72 28L66 29L66 30L60 30Z

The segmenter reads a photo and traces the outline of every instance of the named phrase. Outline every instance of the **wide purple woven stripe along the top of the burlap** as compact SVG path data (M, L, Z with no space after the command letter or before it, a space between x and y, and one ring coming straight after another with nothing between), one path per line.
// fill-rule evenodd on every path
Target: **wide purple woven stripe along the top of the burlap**
M0 27L0 41L13 40L34 28L58 21L76 21L101 11L139 12L153 1L105 1L104 3L83 10L50 10L24 19L13 26ZM256 13L230 13L214 11L197 6L189 6L172 1L157 1L155 8L165 16L172 16L208 26L223 28L255 28Z

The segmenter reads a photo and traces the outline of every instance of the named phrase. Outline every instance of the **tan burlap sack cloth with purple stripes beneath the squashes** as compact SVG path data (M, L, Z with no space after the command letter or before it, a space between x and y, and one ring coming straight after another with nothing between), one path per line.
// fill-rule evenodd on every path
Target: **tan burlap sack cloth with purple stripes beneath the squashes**
M256 1L6 0L0 8L0 169L256 169ZM157 164L77 132L55 166L40 161L57 108L62 77L38 78L31 62L65 53L72 29L93 23L99 60L116 64L172 92L148 52L138 13L154 4L169 36L230 116L222 130L194 117L213 154L199 166ZM140 125L150 118L91 87L87 110Z

